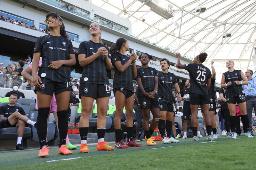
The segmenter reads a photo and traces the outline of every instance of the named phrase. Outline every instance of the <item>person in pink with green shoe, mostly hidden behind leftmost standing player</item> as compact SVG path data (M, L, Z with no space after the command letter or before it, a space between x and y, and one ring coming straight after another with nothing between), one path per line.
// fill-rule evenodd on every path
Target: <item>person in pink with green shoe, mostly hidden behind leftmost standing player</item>
M39 59L39 64L38 64L38 68L40 68L42 65L42 57L40 57ZM30 72L32 71L32 62L21 72L21 75L28 80L28 82L33 82L33 78L32 76L30 76ZM38 101L37 101L37 98L36 98L36 109L38 109ZM56 98L55 98L55 94L53 93L52 95L52 101L51 101L51 106L50 106L50 113L53 113L53 116L54 116L54 119L56 120L56 124L57 124L57 129L59 130L59 127L58 127L58 115L57 115L57 104L56 104ZM49 121L49 116L48 115L48 118L47 118L47 122ZM66 146L68 147L69 150L75 150L77 147L72 145L70 142L69 142L69 138L68 138L68 135L66 137Z

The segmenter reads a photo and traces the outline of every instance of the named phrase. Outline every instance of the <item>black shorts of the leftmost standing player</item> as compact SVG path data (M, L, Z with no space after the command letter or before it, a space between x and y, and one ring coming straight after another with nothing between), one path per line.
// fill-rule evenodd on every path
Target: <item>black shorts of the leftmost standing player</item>
M53 92L54 92L56 96L61 92L71 91L72 85L70 82L51 81L48 78L41 78L41 80L42 80L41 87L36 87L35 93L40 92L42 94L53 96Z

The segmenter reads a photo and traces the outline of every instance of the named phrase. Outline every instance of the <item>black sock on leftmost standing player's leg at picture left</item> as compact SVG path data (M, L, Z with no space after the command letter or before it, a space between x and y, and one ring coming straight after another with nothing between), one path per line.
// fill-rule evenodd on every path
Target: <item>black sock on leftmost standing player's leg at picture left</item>
M37 121L36 121L36 131L37 131L37 136L39 139L40 143L40 149L44 145L47 146L47 141L46 141L46 135L47 135L47 117L50 112L50 107L46 108L39 108L38 109L38 116L37 116Z

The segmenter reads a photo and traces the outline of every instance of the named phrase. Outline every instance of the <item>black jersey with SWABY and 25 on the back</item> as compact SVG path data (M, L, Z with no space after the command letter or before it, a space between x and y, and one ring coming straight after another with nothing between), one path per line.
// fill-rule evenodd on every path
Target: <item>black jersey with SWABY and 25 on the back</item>
M185 64L185 69L189 72L190 93L208 96L207 80L211 78L211 71L202 64Z

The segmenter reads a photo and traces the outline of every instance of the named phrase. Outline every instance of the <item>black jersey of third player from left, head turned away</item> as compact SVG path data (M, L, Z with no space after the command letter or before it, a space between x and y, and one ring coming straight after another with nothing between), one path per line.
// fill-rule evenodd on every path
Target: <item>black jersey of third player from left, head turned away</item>
M117 61L120 61L122 65L124 65L130 58L126 55L122 55L120 53L116 53L114 56L112 56L112 63L115 68L115 77L113 82L113 90L119 89L124 87L127 90L133 91L133 84L132 84L132 63L128 66L124 72L120 72L116 66L115 63Z

